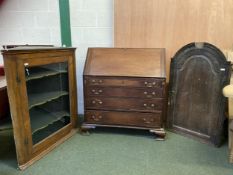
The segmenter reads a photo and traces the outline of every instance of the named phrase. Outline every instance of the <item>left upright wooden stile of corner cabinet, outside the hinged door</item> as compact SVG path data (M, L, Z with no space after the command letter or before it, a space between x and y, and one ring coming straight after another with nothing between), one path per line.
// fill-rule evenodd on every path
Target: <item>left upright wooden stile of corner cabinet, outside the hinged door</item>
M7 92L10 103L17 159L19 164L23 164L28 160L28 149L25 149L25 144L27 144L28 140L23 129L25 126L20 109L23 99L20 98L20 79L17 75L18 68L14 56L11 57L4 55L4 67L7 79Z

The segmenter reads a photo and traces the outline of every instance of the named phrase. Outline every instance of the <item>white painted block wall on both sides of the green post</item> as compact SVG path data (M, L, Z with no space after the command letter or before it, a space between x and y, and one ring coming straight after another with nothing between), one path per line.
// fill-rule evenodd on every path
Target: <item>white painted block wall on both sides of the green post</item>
M70 12L72 44L77 47L78 110L83 114L87 48L113 46L113 0L70 0ZM8 44L60 46L58 0L4 0L0 6L0 47Z

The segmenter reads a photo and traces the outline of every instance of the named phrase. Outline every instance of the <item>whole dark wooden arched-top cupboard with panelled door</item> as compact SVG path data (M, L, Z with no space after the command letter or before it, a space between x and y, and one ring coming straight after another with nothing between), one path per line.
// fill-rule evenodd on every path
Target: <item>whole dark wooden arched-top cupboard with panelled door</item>
M201 141L221 144L230 64L215 46L191 43L171 61L168 127Z

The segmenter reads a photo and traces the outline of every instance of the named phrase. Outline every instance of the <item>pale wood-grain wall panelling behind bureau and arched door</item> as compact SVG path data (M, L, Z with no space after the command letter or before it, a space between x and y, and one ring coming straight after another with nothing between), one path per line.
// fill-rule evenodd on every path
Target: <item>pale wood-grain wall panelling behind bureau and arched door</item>
M167 72L188 43L233 46L232 0L115 0L114 8L115 47L166 48Z

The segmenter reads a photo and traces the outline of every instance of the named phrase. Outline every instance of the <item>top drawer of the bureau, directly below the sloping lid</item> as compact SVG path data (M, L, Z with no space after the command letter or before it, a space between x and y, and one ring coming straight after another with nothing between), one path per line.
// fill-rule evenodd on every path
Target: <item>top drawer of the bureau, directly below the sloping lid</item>
M84 77L85 85L164 88L165 78Z

